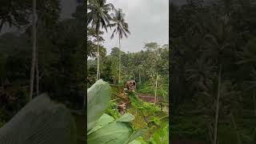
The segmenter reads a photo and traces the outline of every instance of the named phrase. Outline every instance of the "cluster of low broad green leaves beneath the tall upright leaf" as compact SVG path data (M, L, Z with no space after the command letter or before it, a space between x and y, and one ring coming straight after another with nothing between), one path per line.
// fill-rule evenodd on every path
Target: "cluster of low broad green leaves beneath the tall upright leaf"
M87 142L89 144L129 143L142 134L142 131L134 132L130 126L133 119L134 116L128 113L115 121L110 115L103 114L94 128L90 130Z

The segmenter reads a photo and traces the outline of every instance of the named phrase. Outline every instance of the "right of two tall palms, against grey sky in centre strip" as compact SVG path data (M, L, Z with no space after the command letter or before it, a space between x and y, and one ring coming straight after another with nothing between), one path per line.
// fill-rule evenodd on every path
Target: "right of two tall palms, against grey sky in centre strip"
M125 14L122 13L122 9L114 10L114 17L112 19L114 23L109 24L110 28L115 26L113 34L110 38L114 38L114 34L118 34L119 36L119 74L118 74L118 82L120 82L120 73L121 73L121 44L120 39L124 35L126 38L127 34L130 34L128 30L128 23L125 21Z

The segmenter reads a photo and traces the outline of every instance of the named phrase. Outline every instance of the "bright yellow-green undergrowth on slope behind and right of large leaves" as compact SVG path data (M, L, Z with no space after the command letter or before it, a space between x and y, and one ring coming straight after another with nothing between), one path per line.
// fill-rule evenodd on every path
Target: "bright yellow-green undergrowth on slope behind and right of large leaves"
M119 118L121 114L118 112L118 95L120 94L118 86L112 86L112 100L106 109L106 114ZM161 110L157 105L150 102L143 102L138 98L136 92L128 94L130 99L130 108L127 112L134 115L134 120L131 122L134 130L146 129L146 132L138 138L138 142L146 143L164 143L169 135L166 131L166 123L169 122L169 116ZM169 125L168 125L169 126ZM167 142L168 143L168 142Z

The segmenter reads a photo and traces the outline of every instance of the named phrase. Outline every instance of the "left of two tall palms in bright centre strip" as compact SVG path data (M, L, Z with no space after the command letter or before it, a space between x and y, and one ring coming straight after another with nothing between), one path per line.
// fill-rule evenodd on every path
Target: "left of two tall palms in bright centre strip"
M114 10L111 3L106 4L106 0L89 0L88 1L87 24L96 30L97 33L97 80L99 79L99 30L105 28L107 32L107 25L110 24L110 10Z

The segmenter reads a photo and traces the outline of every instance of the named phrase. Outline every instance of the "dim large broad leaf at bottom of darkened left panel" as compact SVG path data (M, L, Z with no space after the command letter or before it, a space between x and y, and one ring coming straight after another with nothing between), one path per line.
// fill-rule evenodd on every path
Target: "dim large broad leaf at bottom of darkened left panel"
M74 118L65 106L39 95L0 129L1 144L76 143Z

